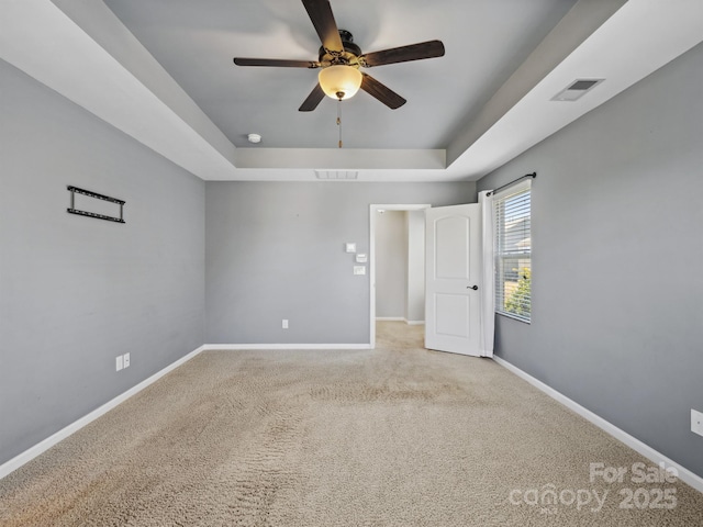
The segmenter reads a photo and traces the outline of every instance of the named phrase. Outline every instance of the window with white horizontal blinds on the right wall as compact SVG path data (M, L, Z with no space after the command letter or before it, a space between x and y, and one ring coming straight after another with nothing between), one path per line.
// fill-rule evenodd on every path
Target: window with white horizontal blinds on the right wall
M495 195L495 312L529 323L531 181Z

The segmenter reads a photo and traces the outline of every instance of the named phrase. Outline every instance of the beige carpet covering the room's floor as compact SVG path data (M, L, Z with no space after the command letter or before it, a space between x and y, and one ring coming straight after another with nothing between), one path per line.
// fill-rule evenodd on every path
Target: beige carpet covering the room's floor
M703 494L633 482L652 463L421 330L203 352L0 481L0 525L703 525ZM590 481L590 463L627 474Z

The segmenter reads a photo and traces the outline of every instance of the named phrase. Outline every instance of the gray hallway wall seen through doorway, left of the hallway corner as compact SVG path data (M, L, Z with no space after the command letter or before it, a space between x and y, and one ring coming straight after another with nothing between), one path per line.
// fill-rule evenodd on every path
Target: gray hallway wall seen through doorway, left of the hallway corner
M403 211L376 217L376 316L403 318L408 303L408 221Z

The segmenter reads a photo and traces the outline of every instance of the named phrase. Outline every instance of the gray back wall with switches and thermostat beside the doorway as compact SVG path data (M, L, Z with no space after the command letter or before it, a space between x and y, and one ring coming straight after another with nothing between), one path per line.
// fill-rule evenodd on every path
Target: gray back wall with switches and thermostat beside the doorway
M208 344L368 344L372 203L476 202L475 183L205 184ZM290 328L281 329L281 319Z

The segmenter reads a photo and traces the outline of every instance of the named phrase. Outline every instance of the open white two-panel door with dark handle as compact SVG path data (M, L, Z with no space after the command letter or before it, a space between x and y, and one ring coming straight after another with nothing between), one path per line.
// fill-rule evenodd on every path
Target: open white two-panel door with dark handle
M480 356L481 205L425 211L425 347Z

